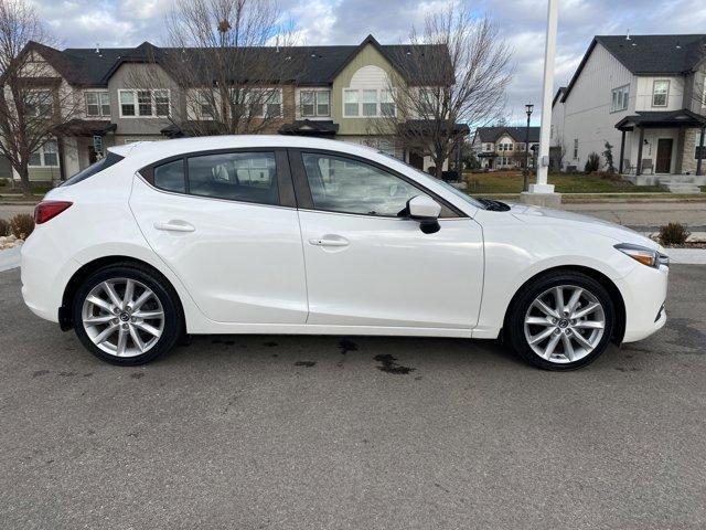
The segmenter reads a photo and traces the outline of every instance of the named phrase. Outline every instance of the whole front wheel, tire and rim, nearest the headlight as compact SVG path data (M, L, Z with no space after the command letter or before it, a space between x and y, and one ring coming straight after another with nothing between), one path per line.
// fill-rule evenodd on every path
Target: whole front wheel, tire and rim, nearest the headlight
M610 343L613 303L590 276L553 272L515 298L506 331L514 350L547 370L574 370L596 360Z

